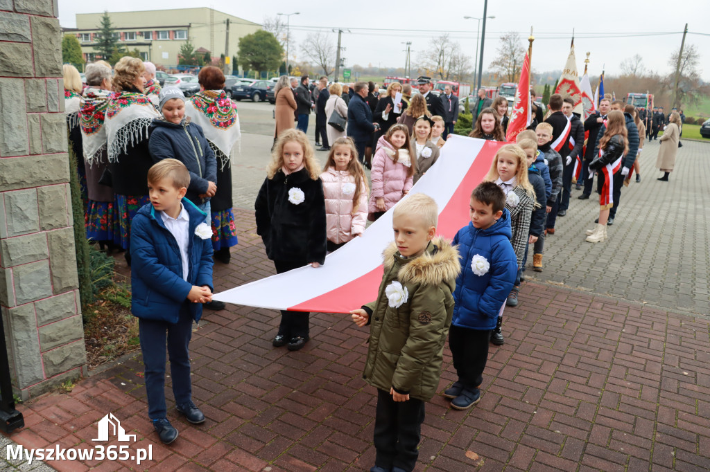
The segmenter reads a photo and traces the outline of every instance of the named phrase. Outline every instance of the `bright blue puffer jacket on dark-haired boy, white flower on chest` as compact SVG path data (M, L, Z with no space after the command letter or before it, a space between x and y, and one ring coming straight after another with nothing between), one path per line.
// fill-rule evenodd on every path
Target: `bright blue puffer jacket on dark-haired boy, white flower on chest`
M510 245L510 213L503 208L503 216L486 230L478 230L473 223L462 227L454 237L458 245L461 273L454 291L452 323L470 330L493 330L498 312L506 303L518 274L518 259ZM471 260L479 254L491 264L484 275L474 274Z

